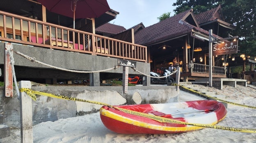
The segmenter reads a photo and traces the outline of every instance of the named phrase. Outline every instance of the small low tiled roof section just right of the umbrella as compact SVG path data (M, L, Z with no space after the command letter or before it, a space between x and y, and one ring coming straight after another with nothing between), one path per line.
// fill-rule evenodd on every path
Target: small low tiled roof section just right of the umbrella
M106 33L106 34L118 34L124 30L126 29L123 26L114 25L111 23L106 23L95 29L95 31L97 32Z

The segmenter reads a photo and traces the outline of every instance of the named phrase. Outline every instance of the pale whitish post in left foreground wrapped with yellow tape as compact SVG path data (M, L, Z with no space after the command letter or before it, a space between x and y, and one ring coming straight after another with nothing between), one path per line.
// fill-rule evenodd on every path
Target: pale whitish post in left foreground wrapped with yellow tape
M31 88L30 81L21 81L19 88ZM21 143L33 143L32 99L20 92Z

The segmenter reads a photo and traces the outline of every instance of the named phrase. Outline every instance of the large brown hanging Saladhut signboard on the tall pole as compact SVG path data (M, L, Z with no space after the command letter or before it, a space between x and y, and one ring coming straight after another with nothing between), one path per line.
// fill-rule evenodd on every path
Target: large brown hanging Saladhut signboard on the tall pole
M213 56L236 54L238 51L238 40L224 41L213 45Z

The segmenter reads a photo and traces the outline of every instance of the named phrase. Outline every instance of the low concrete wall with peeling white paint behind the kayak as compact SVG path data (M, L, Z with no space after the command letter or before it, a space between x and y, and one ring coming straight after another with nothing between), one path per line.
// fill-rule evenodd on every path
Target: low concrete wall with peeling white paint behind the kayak
M35 87L32 85L32 90L103 102L110 105L178 102L176 86L129 86L127 94L123 94L122 86ZM4 116L5 125L9 127L20 127L20 107L16 91L14 91L14 97L5 98L3 87L0 87L0 97L0 112ZM36 125L41 122L56 121L61 118L89 114L97 112L101 106L102 105L67 101L48 96L37 96L37 101L32 101L32 121L33 125Z

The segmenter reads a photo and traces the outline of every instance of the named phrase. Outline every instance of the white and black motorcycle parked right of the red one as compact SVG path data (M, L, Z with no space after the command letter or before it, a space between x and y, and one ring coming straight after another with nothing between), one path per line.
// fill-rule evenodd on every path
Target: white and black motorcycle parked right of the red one
M151 84L167 84L167 83L175 83L175 80L173 77L171 76L168 76L171 74L171 71L165 69L165 73L164 73L164 76L167 76L166 78L152 78L150 77L150 82ZM151 76L155 76L155 77L160 77L159 74L151 71L150 72L150 75Z

